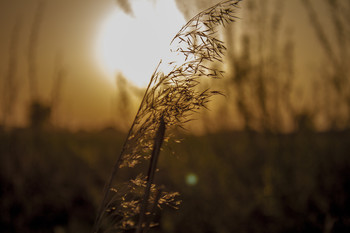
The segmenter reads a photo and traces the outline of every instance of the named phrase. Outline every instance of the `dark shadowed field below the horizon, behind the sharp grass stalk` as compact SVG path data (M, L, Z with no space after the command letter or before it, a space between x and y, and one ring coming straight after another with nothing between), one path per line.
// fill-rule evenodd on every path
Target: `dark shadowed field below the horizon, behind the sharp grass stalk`
M1 232L91 232L124 137L2 131ZM165 145L156 174L180 209L163 209L151 231L350 232L349 131L183 138Z

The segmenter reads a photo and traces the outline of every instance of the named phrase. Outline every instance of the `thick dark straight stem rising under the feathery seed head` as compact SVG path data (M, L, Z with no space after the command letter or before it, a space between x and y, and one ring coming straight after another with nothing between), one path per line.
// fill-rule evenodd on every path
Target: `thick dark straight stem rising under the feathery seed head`
M142 231L143 231L142 224L143 224L144 219L145 219L145 213L147 210L148 199L149 199L150 192L151 192L151 186L152 186L152 183L154 180L154 173L157 169L157 162L158 162L158 157L159 157L159 153L160 153L160 148L161 148L163 140L164 140L164 134L165 134L165 122L164 122L164 118L161 117L160 124L159 124L158 130L157 130L155 138L154 138L153 151L152 151L150 166L148 168L146 190L145 190L143 200L142 200L142 205L141 205L141 210L140 210L139 221L138 221L137 228L136 228L136 233L142 233Z

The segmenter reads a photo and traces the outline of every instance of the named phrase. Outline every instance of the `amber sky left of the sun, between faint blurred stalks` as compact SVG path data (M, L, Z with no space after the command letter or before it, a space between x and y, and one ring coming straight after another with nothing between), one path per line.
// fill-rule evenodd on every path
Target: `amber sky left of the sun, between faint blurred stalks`
M5 35L11 34L16 20L20 22L18 79L21 83L19 93L22 95L19 99L24 102L28 101L26 50L36 7L37 1L33 0L1 1L0 6L1 51L8 51L10 37ZM74 125L74 121L78 120L85 122L82 125L101 122L105 118L102 116L109 114L113 87L101 78L103 73L96 62L94 44L100 24L111 7L114 7L113 1L60 0L46 3L37 45L39 95L49 101L55 56L62 54L62 65L67 74L63 83L61 110L69 112L69 116L64 114L68 119L63 121L67 121L67 124ZM1 73L6 72L6 63L8 56L5 55L1 57Z

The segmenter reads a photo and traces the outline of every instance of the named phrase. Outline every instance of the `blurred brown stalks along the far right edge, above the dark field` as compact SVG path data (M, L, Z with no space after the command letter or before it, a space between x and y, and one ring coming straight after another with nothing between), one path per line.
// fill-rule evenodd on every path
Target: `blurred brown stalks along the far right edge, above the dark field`
M318 106L315 115L322 116L330 129L349 128L350 95L349 95L349 60L350 60L350 3L349 1L321 1L327 6L330 26L325 27L320 20L314 4L301 0L309 21L325 54L325 65L322 66L324 88L323 104ZM319 90L317 91L318 95Z

